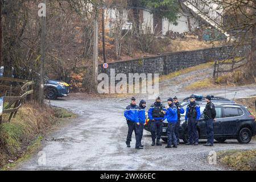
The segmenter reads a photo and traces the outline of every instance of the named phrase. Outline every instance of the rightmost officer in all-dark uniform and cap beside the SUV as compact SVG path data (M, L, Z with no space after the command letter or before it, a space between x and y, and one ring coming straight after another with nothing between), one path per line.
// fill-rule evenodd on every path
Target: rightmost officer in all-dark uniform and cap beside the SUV
M204 144L204 146L213 146L213 140L214 140L214 131L213 131L213 121L216 117L216 110L214 104L210 101L212 100L212 97L207 96L205 97L205 101L207 101L207 105L204 109L204 118L207 128L207 143Z

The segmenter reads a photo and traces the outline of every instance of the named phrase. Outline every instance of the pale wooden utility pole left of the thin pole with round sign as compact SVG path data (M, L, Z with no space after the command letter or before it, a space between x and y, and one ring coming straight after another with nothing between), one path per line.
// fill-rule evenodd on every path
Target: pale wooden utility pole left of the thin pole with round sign
M98 86L98 14L95 14L94 19L94 43L93 43L93 82L94 89Z

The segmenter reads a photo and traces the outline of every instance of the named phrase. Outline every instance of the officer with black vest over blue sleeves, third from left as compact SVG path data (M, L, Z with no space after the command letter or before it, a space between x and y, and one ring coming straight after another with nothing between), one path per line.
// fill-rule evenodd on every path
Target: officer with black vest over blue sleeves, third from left
M155 103L148 109L148 118L151 120L151 146L155 146L155 139L156 145L162 146L160 138L163 130L162 122L166 119L166 108L161 104L160 97L157 97Z

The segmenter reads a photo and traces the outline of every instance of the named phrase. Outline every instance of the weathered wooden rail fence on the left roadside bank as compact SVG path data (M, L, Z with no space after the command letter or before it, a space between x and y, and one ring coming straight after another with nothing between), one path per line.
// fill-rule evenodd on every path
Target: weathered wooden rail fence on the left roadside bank
M10 114L8 121L11 121L11 118L15 117L19 107L22 105L23 101L26 100L28 95L31 95L34 93L34 81L31 80L20 80L17 78L9 78L9 77L0 77L0 82L18 82L19 84L23 84L22 86L16 87L18 88L19 96L4 96L3 97L3 111L2 114ZM10 84L12 85L12 84ZM0 85L0 88L9 88L14 89L15 86L6 86L6 85ZM2 122L2 115L0 116L0 123Z

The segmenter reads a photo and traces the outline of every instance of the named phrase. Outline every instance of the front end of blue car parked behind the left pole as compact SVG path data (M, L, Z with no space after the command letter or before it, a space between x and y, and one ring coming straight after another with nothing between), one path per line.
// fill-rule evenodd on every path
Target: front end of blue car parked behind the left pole
M58 80L44 79L44 94L46 98L56 100L57 97L65 97L69 94L69 85Z

